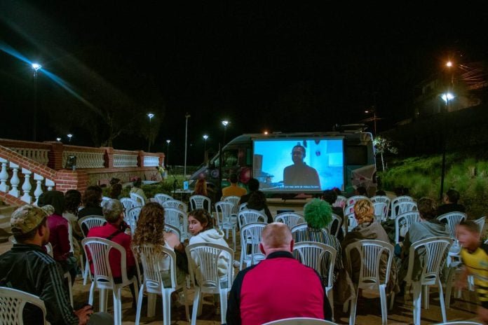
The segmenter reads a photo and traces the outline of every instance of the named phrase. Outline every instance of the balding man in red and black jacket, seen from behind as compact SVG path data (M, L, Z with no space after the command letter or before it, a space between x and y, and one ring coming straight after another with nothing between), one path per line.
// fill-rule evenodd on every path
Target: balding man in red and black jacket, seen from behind
M254 325L290 317L332 315L318 273L293 258L285 223L269 223L259 249L266 259L238 273L227 305L227 324Z

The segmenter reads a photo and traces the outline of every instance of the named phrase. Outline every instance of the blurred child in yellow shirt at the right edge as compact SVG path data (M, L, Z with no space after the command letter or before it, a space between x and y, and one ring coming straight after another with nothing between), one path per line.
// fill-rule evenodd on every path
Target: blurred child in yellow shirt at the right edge
M480 305L478 317L483 324L488 324L488 244L481 241L480 228L474 221L461 221L456 228L456 237L461 244L463 272L456 281L459 289L467 286L468 275L475 278L475 286Z

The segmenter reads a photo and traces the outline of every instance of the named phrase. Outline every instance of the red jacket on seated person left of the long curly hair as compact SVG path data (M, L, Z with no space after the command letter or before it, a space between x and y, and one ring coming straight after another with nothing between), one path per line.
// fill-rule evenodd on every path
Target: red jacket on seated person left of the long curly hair
M116 226L111 223L106 223L104 226L94 227L88 231L87 237L102 237L107 238L117 231ZM132 249L130 249L130 235L126 233L118 233L115 237L111 239L112 242L120 244L126 249L126 266L129 270L131 267L135 266L135 259ZM89 252L88 252L89 255ZM93 264L91 264L91 256L88 256L88 261L90 261L90 270L93 273ZM109 262L111 266L112 276L121 277L121 254L112 249L109 254Z

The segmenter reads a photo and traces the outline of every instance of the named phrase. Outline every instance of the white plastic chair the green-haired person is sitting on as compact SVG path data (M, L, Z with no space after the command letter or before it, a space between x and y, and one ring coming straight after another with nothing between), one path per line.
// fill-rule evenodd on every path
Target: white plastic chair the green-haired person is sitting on
M313 268L320 277L327 279L325 293L332 307L332 319L334 319L334 266L337 251L334 247L320 242L299 242L294 244L293 256L302 264Z

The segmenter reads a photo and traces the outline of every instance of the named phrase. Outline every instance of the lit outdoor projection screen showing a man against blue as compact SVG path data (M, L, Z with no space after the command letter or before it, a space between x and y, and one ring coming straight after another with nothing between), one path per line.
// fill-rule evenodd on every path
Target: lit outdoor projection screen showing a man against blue
M342 138L254 139L253 149L253 175L263 192L344 190Z

